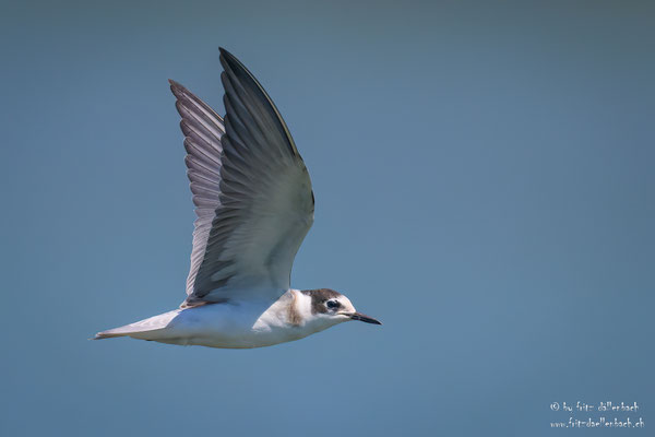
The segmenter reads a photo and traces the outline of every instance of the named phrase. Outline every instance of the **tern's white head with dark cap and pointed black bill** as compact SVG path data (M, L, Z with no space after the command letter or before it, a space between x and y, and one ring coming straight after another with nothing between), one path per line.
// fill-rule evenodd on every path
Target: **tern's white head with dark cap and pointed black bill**
M300 293L309 297L307 304L312 318L324 323L336 324L349 320L359 320L367 323L382 324L372 317L358 312L350 299L334 290L303 290Z

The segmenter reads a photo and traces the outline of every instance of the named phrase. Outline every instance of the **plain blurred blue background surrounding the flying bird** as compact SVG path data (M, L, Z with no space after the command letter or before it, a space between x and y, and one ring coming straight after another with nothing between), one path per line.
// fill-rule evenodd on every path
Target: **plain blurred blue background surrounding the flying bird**
M491 3L3 1L0 434L570 434L555 401L652 433L654 3ZM384 326L86 340L183 298L167 79L223 113L218 46L312 177L293 285Z

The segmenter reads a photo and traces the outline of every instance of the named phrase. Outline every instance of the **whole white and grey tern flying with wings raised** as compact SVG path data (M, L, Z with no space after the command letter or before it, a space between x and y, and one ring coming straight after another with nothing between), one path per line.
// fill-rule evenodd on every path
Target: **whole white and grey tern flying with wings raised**
M290 287L314 194L296 143L254 75L219 48L225 117L169 80L196 218L187 297L171 311L98 332L218 349L272 346L338 323L382 324L331 288Z

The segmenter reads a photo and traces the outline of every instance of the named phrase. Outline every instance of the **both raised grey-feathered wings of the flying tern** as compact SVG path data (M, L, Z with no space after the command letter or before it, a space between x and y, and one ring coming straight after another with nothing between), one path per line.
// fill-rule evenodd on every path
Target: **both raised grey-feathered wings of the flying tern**
M313 223L305 163L254 76L221 49L225 119L176 82L195 229L182 306L276 298Z

